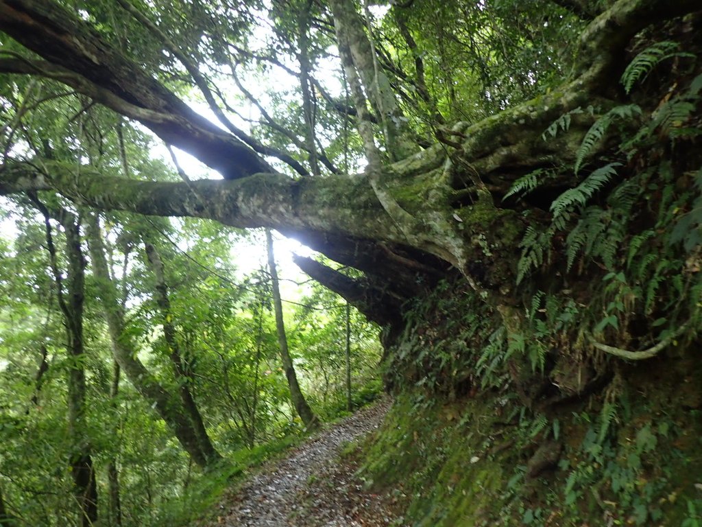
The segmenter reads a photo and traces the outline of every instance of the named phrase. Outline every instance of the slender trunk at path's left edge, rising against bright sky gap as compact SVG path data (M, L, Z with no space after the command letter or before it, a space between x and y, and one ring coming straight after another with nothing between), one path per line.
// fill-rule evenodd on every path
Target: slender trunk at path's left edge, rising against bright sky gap
M300 384L298 384L298 376L295 373L295 367L293 366L293 360L290 358L290 353L288 351L288 339L285 334L285 322L283 320L283 303L280 299L280 287L278 283L278 270L275 266L275 256L273 254L273 238L270 235L270 230L265 230L266 246L268 249L268 271L270 272L270 278L272 282L273 289L273 306L275 311L275 327L278 332L278 344L280 346L280 358L283 363L283 369L285 371L285 377L288 379L288 386L290 388L290 398L293 401L293 406L297 411L300 419L305 423L307 429L312 429L317 427L319 421L317 416L312 413L310 405L307 404L305 396L302 390L300 390Z

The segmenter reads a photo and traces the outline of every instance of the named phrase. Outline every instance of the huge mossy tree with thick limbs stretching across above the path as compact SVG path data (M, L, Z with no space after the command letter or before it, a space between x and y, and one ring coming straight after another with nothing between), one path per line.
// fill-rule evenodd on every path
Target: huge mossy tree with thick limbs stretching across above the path
M371 107L379 100L385 104L392 93L385 93L373 63L372 35L352 2L333 0L331 7L338 14L336 32L347 77L361 78L375 99ZM621 57L635 34L698 7L696 0L614 2L585 27L572 74L559 89L479 122L438 129L437 144L404 159L391 156L396 162L379 154L364 93L358 89L358 128L369 169L355 176L292 179L274 173L237 138L194 115L79 16L50 0L0 0L0 30L45 59L0 58L0 71L58 79L139 120L227 178L157 183L89 169L75 178L58 164L45 162L44 169L37 169L34 163L8 160L1 166L0 193L52 189L98 208L275 228L362 271L364 278L354 280L298 259L313 278L385 325L397 326L405 302L453 268L486 305L510 319L519 312L516 262L527 227L548 226L553 196L576 188L588 176L574 174L570 167L597 116L569 112L588 105L606 111L621 103L622 93L611 79L621 75ZM358 37L355 51L352 36ZM564 115L571 117L568 129L544 141L543 131ZM604 139L590 155L607 150ZM512 183L545 167L558 170L528 200L505 200Z

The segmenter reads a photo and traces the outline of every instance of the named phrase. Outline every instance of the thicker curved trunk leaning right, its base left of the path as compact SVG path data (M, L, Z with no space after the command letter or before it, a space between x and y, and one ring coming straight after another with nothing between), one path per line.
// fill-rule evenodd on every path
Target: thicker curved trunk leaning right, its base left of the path
M125 375L135 389L154 405L161 419L164 419L166 424L168 424L168 427L171 428L180 445L190 454L192 460L200 467L206 467L209 461L208 457L200 448L199 441L197 441L197 433L192 427L190 420L185 417L183 405L180 404L177 397L174 397L157 382L152 373L139 360L136 346L128 332L126 332L124 311L119 304L117 288L114 282L110 280L107 258L105 256L105 245L102 242L97 216L88 216L87 226L93 273L98 294L102 301L102 308L105 311L114 358L117 360L119 367L124 370Z

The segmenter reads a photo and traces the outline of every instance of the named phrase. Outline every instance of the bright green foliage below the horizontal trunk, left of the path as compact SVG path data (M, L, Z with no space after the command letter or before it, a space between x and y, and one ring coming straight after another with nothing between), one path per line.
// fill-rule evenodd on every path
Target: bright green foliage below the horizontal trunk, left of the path
M14 239L0 238L0 481L13 514L34 525L69 525L77 519L67 464L74 445L65 426L65 398L67 375L76 364L62 346L65 334L48 278L44 233L27 216ZM124 294L127 332L140 346L140 358L166 389L175 391L185 382L192 390L208 432L227 461L206 473L197 470L130 384L121 382L117 396L110 395L111 343L93 293L94 277L88 275L86 355L81 365L87 370L87 434L98 470L100 512L110 521L106 465L114 461L124 526L180 525L206 513L246 467L300 438L278 364L268 278L232 268L232 233L214 223L174 224L111 214L105 226L112 273ZM172 350L153 300L154 280L145 267L143 240L158 245L164 261L170 319L190 375L186 379L173 376ZM62 242L60 233L57 242ZM180 247L187 247L187 253ZM310 299L310 305L315 302L324 308L330 307L325 302L340 305L329 292ZM319 414L330 419L345 411L338 403L344 393L338 383L317 391L324 385L320 365L329 375L342 377L343 311L337 308L333 313L302 313L291 339L296 365L303 371L309 368L303 387L313 394ZM380 392L379 349L374 328L355 310L351 317L352 396L360 406ZM48 370L38 387L42 346ZM34 495L46 499L33 500Z

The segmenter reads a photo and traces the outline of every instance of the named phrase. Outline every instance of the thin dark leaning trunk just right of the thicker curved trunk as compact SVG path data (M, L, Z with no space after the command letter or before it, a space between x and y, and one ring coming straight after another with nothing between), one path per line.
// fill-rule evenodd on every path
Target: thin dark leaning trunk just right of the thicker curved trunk
M212 441L207 435L205 424L202 422L202 416L197 409L197 403L192 396L190 386L193 386L194 378L190 365L186 363L183 353L180 351L180 343L176 336L176 327L173 325L173 313L171 312L171 300L168 298L168 287L166 286L166 278L164 273L164 263L161 261L161 256L154 245L150 243L144 244L147 259L150 263L151 270L156 278L156 303L161 310L163 318L162 325L164 327L164 337L166 344L171 352L171 365L173 365L173 376L176 377L178 391L180 392L180 401L183 402L183 408L187 412L187 417L190 418L190 423L197 435L197 441L200 450L207 458L207 462L215 462L222 459L222 456L215 450Z

